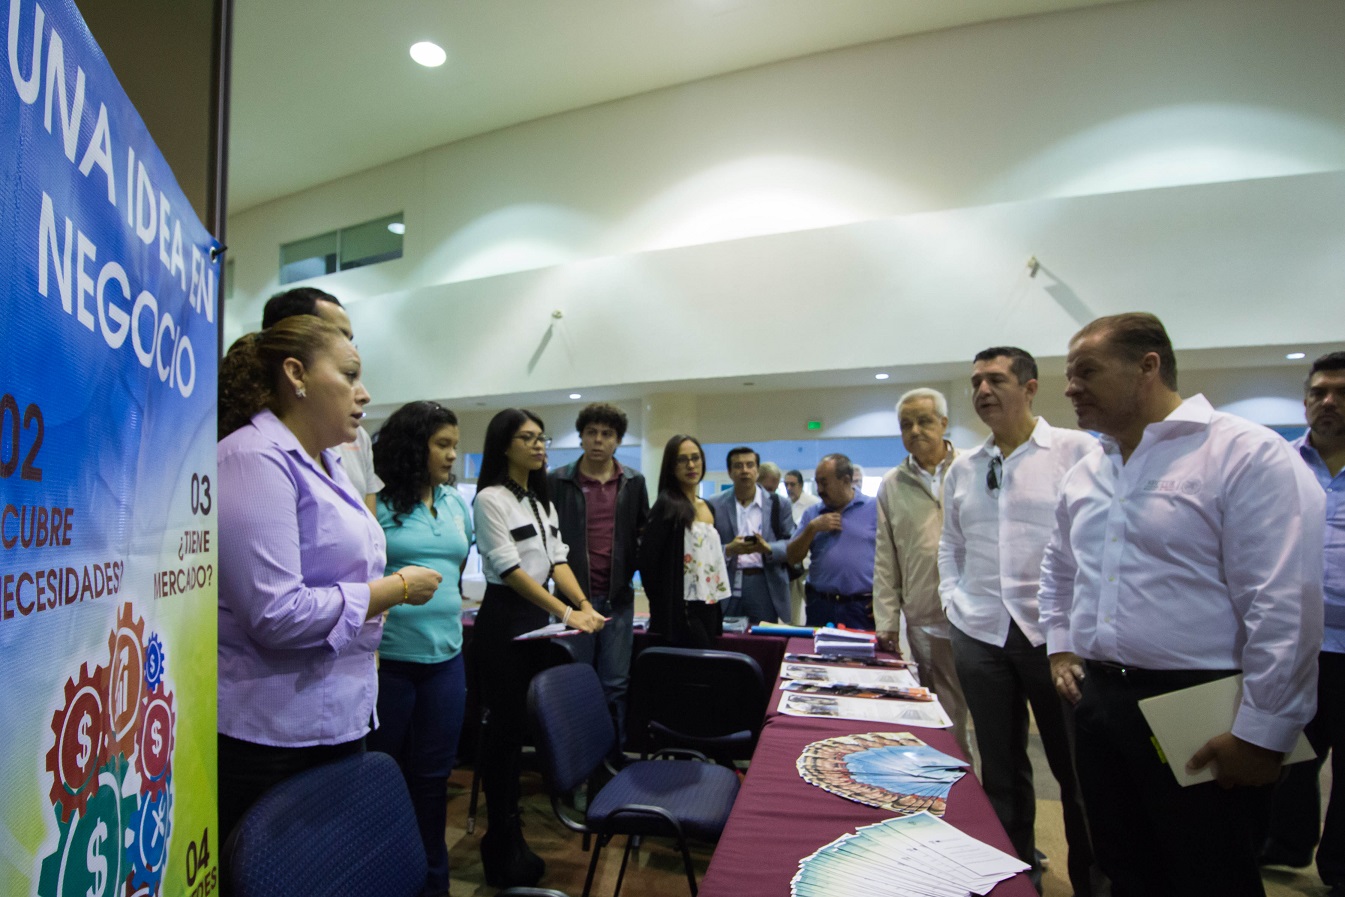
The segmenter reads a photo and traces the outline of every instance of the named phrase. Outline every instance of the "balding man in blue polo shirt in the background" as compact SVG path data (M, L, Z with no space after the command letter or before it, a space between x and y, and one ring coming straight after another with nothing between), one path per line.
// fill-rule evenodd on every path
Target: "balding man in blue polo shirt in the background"
M850 481L854 465L845 455L818 463L814 481L822 502L799 518L799 530L785 555L808 568L804 615L807 625L839 623L873 629L873 546L878 534L878 506Z

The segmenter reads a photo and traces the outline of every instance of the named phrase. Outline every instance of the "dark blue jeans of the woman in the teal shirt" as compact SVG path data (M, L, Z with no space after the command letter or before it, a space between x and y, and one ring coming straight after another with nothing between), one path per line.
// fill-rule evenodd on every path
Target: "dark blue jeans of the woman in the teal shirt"
M416 808L429 874L426 894L448 893L448 776L457 758L467 705L463 655L440 663L383 659L378 666L378 729L369 749L397 760Z

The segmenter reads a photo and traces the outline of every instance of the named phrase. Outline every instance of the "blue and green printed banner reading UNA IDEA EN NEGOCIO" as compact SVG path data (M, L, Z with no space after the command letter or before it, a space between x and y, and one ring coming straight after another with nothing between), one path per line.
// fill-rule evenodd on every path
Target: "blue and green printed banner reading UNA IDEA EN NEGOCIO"
M7 5L0 894L210 894L217 243L74 4Z

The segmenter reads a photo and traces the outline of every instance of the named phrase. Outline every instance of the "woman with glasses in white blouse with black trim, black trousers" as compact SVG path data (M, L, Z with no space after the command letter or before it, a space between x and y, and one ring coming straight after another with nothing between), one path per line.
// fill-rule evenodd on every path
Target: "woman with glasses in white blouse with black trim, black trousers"
M482 865L492 888L533 886L546 870L523 841L518 815L527 686L541 652L514 637L551 619L584 632L603 628L565 562L568 549L546 488L550 440L542 426L539 417L516 407L491 418L476 480L473 520L486 596L472 651L491 713L482 767L488 816ZM551 594L553 582L561 597Z

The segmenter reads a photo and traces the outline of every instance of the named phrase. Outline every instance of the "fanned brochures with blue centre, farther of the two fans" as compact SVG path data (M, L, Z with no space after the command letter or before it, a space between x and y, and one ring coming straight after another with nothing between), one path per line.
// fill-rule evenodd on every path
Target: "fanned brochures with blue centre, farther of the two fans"
M855 803L942 816L967 763L909 732L869 732L814 741L799 754L804 781Z

